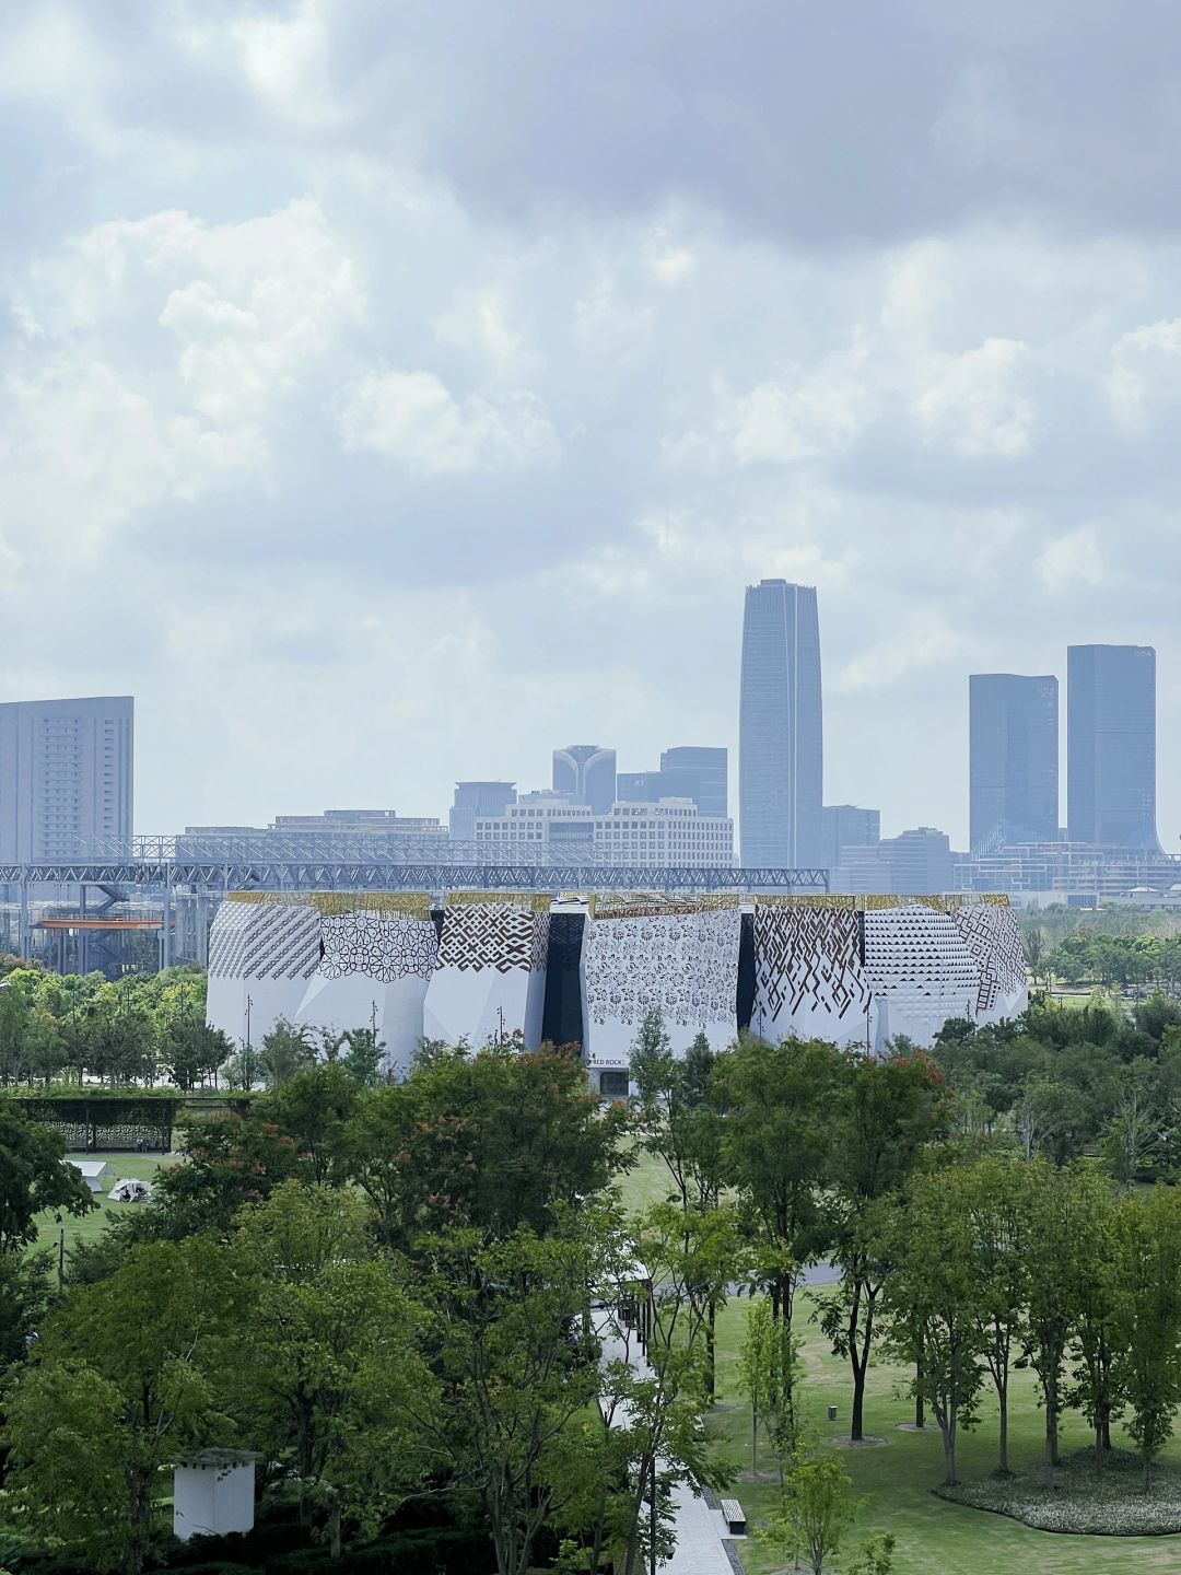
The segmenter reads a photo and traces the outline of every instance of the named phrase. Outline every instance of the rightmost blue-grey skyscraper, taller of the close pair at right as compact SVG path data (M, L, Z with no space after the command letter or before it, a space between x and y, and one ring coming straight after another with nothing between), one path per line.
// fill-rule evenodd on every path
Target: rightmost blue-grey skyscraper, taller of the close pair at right
M1066 827L1072 843L1159 847L1151 646L1066 650Z

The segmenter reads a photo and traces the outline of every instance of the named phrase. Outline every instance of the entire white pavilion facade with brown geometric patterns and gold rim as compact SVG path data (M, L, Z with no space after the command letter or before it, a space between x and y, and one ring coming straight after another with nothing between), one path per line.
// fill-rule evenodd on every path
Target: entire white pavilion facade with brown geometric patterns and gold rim
M576 945L559 945L564 926L578 929ZM734 898L597 895L584 921L554 917L551 1011L562 1006L576 1027L581 997L590 1069L627 1068L653 1006L676 1052L702 1032L724 1049L737 1027L740 934ZM948 1017L998 1022L1025 1010L1020 931L1003 899L759 898L753 937L751 1032L770 1041L882 1054L899 1035L929 1046ZM546 898L452 895L439 934L427 896L235 895L209 934L206 1014L255 1047L279 1017L335 1032L375 1025L395 1071L424 1035L474 1047L520 1035L532 1049L550 939Z

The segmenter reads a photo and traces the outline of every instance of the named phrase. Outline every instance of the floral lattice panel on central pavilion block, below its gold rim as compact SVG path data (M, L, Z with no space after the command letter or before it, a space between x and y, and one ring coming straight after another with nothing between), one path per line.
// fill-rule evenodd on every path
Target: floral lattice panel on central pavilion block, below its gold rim
M639 1025L658 1006L666 1028L734 1017L737 906L715 912L587 923L586 1008L592 1024Z

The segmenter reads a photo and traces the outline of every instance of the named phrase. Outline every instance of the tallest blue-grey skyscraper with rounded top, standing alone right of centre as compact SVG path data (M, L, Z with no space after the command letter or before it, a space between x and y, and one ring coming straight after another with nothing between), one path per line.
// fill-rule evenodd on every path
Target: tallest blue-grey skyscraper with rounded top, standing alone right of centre
M746 866L820 863L824 721L816 591L746 586L739 707L739 816Z

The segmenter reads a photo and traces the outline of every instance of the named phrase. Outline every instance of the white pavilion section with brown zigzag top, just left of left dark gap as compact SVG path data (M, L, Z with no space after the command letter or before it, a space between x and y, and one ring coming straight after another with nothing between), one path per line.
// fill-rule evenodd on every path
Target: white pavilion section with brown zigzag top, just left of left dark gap
M520 1035L526 1049L537 1049L548 943L548 898L449 896L424 1005L425 1036L479 1049Z

